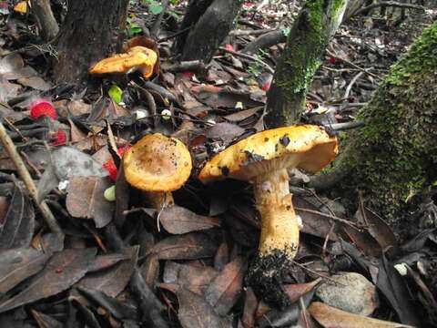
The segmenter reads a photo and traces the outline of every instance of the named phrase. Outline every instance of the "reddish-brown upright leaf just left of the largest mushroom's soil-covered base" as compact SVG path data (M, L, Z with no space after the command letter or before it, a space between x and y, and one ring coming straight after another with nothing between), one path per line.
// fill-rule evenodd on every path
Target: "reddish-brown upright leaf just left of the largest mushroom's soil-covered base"
M205 299L214 307L216 313L226 315L234 306L241 292L247 262L239 257L223 268L205 292Z

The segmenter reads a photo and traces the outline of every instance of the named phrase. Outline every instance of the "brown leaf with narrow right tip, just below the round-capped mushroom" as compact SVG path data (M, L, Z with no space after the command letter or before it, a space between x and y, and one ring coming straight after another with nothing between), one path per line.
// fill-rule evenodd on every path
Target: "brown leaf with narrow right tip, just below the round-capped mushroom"
M177 205L162 210L159 214L159 222L172 234L207 230L220 225L219 219L198 215Z

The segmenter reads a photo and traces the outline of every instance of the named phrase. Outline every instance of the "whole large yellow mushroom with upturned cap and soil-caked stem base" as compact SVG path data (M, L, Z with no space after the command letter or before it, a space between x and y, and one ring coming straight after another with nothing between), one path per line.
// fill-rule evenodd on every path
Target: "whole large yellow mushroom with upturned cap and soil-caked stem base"
M232 178L253 184L261 234L248 278L255 292L268 302L289 304L281 281L299 247L288 169L317 172L330 164L337 152L337 138L319 126L274 128L223 150L198 175L203 181Z

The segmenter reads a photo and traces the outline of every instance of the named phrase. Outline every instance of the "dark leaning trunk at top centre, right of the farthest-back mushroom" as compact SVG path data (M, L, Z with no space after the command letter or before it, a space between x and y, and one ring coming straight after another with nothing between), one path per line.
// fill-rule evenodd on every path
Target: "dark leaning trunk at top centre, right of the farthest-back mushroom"
M181 60L208 63L228 36L241 3L240 0L192 1L181 30L191 28L188 35L178 37L176 46L182 54Z

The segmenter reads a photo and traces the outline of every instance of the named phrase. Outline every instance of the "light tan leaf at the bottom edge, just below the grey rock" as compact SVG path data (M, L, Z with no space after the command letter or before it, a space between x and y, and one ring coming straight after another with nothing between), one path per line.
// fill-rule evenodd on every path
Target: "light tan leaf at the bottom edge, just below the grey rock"
M406 324L347 313L322 302L312 302L308 310L314 319L326 328L412 328Z

